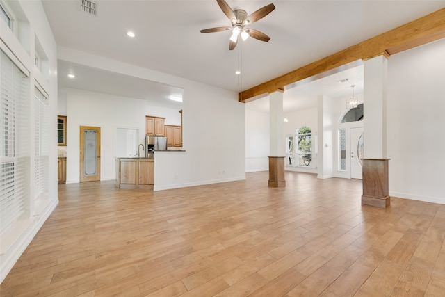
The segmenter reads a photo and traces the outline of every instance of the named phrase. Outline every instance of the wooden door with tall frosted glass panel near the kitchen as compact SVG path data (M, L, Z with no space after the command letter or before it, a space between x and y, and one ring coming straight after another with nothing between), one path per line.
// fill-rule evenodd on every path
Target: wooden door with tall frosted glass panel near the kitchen
M80 181L100 180L100 127L81 126Z

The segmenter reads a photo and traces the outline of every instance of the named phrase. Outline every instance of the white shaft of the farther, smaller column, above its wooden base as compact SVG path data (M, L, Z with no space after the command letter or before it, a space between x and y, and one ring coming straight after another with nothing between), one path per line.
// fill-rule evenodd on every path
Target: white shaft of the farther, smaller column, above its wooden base
M283 138L283 92L276 91L269 95L270 117L270 156L284 156Z

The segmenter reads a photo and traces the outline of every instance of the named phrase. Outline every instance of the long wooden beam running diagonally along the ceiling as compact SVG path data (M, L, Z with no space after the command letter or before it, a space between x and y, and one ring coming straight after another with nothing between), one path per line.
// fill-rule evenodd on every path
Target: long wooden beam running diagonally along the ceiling
M250 102L261 95L283 90L285 86L296 81L333 70L359 59L367 60L382 54L385 56L397 54L442 38L445 38L445 8L261 83L259 86L244 90L239 93L239 101Z

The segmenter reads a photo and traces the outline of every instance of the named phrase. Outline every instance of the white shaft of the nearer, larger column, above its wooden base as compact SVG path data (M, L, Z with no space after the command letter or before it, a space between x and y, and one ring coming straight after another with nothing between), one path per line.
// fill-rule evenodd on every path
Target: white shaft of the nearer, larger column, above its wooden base
M364 61L364 156L382 159L386 144L387 58L377 56Z

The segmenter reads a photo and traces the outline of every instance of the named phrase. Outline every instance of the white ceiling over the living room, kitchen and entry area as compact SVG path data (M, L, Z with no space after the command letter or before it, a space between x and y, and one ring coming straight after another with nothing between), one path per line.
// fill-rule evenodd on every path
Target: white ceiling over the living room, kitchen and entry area
M445 7L444 0L226 1L233 9L244 9L248 14L274 3L272 13L250 25L269 35L270 41L249 38L229 51L229 31L200 33L200 29L230 25L215 0L98 0L97 15L83 12L81 0L42 2L61 47L234 91L257 86ZM126 35L129 30L136 33L135 38ZM241 83L235 74L239 57ZM59 88L85 88L140 99L167 97L177 92L170 86L154 86L141 79L67 61L59 61L58 66ZM74 68L79 71L76 79L65 79L65 74ZM325 78L289 88L284 93L284 108L311 107L314 100L307 98L314 94L348 96L351 84L357 88L362 85L362 77L357 77L362 71L349 71L339 77L353 77L352 83L339 85L338 79L324 81ZM113 79L125 79L126 83L111 84ZM248 106L253 108L254 104Z

